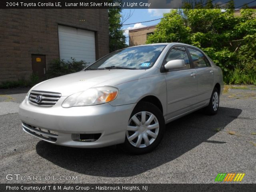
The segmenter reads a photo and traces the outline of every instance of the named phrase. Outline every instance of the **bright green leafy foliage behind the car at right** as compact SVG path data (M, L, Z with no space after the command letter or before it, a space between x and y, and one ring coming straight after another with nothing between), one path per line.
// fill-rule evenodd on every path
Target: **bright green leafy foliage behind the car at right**
M182 42L201 48L223 70L226 83L256 84L256 10L171 10L146 43Z

